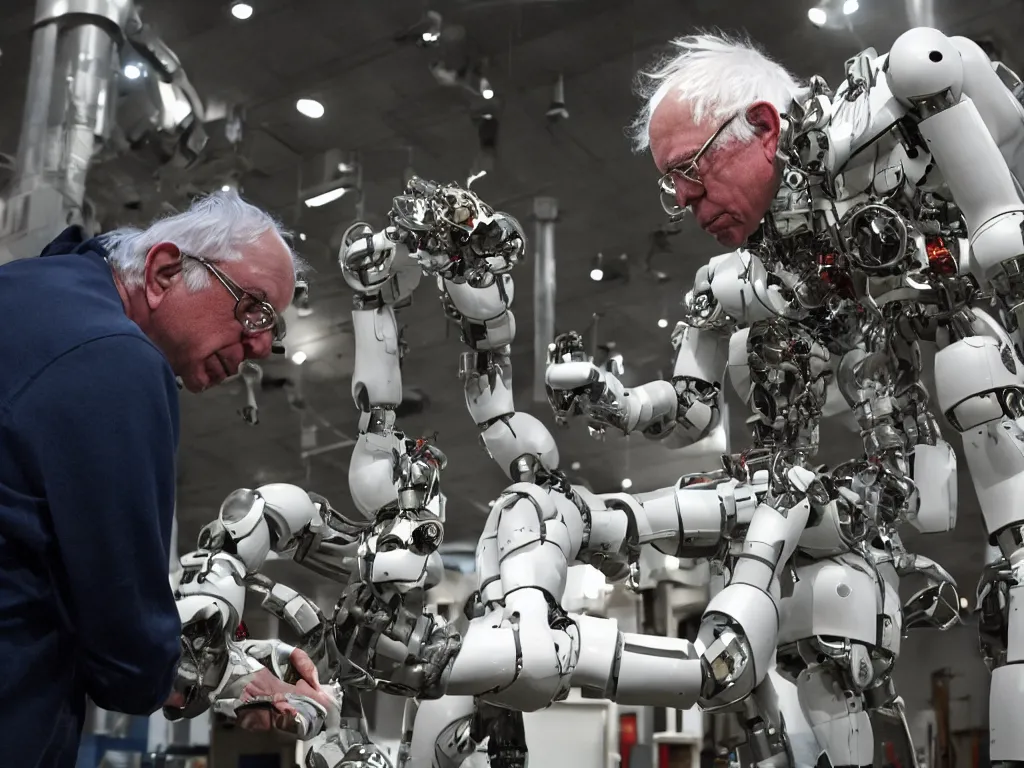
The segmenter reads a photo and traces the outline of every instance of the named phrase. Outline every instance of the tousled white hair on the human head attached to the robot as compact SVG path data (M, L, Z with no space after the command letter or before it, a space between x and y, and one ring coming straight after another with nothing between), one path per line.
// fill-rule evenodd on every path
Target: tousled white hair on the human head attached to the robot
M636 91L644 105L630 126L630 137L640 153L650 146L654 110L670 94L689 104L697 123L738 115L722 137L749 141L754 126L746 119L748 106L768 101L784 113L807 88L749 39L702 33L673 40L669 54L639 73Z

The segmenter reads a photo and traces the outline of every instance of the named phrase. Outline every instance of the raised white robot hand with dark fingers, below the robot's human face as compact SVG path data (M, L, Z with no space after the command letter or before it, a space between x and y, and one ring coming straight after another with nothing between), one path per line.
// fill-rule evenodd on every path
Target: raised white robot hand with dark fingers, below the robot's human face
M595 433L603 433L607 427L628 433L639 421L638 415L630 413L622 382L614 374L594 365L575 332L555 339L544 378L548 401L559 424L565 424L573 416L583 416Z

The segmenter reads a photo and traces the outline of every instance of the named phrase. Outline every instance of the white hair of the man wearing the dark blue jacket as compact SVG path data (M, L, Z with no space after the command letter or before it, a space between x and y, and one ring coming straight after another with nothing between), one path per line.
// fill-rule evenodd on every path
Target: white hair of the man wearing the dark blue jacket
M288 248L296 276L305 272L306 263L289 245L290 233L233 189L197 198L187 210L158 219L145 229L122 227L101 234L99 241L125 286L138 288L145 279L146 254L160 243L173 243L182 252L209 261L236 261L242 258L245 246L269 231ZM210 285L208 270L195 261L185 260L182 273L189 291Z

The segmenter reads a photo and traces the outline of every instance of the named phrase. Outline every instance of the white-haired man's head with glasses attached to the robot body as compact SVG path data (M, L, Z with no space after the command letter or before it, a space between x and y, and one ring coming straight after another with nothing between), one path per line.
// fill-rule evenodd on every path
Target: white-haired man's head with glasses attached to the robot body
M753 46L712 35L673 41L642 76L634 146L650 148L670 214L735 248L755 231L780 183L779 113L806 89Z

